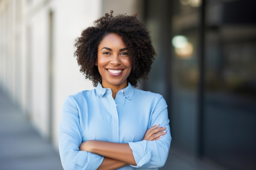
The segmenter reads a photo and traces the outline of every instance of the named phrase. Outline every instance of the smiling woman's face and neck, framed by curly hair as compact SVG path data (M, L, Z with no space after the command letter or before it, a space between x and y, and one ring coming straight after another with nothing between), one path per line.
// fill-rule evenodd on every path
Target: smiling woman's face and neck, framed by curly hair
M98 66L103 88L125 88L132 70L129 51L121 36L110 33L98 46L95 66Z

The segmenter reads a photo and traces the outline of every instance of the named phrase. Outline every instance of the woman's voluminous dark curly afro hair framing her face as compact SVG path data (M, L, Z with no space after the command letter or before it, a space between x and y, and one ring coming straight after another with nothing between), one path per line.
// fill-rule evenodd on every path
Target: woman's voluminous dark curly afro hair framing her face
M128 82L134 87L140 79L147 79L151 64L156 56L151 44L148 30L137 19L137 14L117 16L106 13L105 16L94 21L95 26L83 30L81 37L76 38L76 51L74 57L80 66L80 71L85 75L85 79L90 79L94 85L101 83L101 75L98 67L95 66L97 60L98 46L104 36L116 33L122 37L126 45L131 61L132 71L128 76Z

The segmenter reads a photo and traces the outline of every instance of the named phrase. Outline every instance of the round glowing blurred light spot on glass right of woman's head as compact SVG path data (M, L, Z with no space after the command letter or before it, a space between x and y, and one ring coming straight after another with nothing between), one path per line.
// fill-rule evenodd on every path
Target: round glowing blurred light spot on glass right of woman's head
M193 53L193 45L184 35L175 35L172 40L175 54L181 58L190 58Z

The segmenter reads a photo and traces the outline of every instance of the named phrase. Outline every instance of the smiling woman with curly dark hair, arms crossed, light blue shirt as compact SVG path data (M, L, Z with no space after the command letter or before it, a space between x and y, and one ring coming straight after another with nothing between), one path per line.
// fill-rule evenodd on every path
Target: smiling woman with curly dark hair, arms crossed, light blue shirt
M149 33L137 13L112 13L76 40L80 71L96 88L63 104L59 150L65 170L157 170L168 156L166 102L134 88L156 55Z

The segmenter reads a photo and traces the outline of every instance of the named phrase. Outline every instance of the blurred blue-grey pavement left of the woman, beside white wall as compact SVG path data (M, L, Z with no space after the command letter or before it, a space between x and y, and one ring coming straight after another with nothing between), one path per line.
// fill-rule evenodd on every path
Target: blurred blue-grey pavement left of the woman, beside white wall
M58 152L38 135L2 91L0 170L63 170Z

